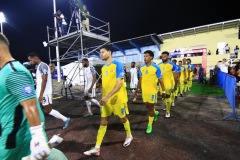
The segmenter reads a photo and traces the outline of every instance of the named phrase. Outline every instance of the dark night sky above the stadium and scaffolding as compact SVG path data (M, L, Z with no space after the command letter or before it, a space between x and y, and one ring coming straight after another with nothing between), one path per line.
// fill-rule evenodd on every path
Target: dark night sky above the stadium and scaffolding
M57 9L70 20L69 1L56 1ZM83 3L91 15L110 22L112 42L240 18L239 0L84 0ZM13 57L24 62L28 53L36 52L48 63L48 50L42 42L47 41L46 27L54 25L53 1L1 0L1 11L7 19L3 31L10 40Z

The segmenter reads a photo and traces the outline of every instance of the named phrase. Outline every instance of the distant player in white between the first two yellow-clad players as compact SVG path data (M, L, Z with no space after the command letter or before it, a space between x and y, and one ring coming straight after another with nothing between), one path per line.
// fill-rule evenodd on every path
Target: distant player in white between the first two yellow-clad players
M130 88L132 89L132 92L134 93L136 88L137 88L137 84L138 84L138 70L136 68L136 63L132 62L131 63L131 69L130 69Z

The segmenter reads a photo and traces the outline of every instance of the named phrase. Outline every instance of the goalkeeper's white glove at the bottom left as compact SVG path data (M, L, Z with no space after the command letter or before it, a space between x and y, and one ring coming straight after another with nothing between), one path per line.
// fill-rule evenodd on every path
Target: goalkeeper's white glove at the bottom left
M49 156L50 148L43 133L42 125L30 127L32 140L30 142L31 158L44 159Z

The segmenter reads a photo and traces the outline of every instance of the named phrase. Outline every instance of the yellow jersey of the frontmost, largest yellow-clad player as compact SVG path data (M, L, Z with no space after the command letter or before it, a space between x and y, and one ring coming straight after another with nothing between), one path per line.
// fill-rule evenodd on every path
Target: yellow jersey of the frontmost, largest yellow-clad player
M113 60L110 64L102 67L102 97L105 97L113 90L117 84L117 79L120 78L123 82L121 88L110 97L107 104L123 104L128 101L127 91L124 86L124 74L123 65L117 60Z

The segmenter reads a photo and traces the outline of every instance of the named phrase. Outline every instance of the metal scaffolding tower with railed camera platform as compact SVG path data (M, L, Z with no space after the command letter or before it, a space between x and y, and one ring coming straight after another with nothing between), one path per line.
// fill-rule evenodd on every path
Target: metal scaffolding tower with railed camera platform
M81 12L81 11L78 10L78 12ZM51 62L59 62L59 63L76 62L75 65L77 66L73 67L72 69L74 68L78 69L79 80L80 80L80 76L84 76L84 75L80 75L80 71L81 69L83 69L83 67L80 68L80 64L82 63L82 58L88 58L89 56L94 56L94 55L95 56L98 55L99 57L99 52L98 52L99 48L110 42L109 22L104 22L91 15L89 15L89 20L90 20L90 25L89 25L90 32L83 29L81 16L79 16L75 21L76 26L71 24L71 26L69 26L68 33L63 36L60 36L60 31L57 29L57 27L50 28L49 26L47 26L47 38L48 38L50 63ZM59 36L58 35L56 36L56 34L54 34L56 30ZM59 50L59 56L56 56L59 58L51 59L52 57L51 47L57 48ZM76 74L74 74L74 76L76 76ZM74 77L71 77L71 79L72 78ZM84 80L84 85L85 85L85 80ZM59 87L57 87L57 89L58 88ZM57 94L55 91L53 93Z

